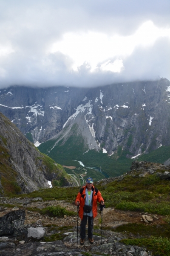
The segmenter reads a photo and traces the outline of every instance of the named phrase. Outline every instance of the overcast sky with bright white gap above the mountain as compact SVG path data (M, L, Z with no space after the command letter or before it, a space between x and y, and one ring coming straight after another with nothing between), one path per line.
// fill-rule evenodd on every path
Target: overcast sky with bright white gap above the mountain
M170 0L0 0L0 88L170 80Z

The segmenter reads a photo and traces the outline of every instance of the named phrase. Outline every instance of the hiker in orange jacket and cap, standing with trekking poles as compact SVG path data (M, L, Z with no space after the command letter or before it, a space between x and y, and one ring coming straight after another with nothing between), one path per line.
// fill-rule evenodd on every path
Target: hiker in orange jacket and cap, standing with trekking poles
M97 216L97 201L104 205L104 200L98 189L93 186L92 178L87 178L86 185L80 189L75 204L79 206L80 224L80 244L83 245L85 241L85 226L88 219L88 240L91 244L93 239L93 221Z

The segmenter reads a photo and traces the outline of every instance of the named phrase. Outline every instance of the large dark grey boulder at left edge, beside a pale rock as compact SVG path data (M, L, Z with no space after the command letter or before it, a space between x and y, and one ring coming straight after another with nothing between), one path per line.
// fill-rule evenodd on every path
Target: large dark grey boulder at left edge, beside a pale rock
M14 231L24 224L26 212L23 209L8 212L0 217L0 236L12 235Z

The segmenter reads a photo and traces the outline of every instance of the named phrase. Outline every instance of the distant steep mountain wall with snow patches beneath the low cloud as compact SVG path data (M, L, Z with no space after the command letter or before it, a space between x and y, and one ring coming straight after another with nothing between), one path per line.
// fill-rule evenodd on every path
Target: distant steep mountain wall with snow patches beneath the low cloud
M82 161L109 176L127 172L132 157L170 146L165 78L96 88L8 87L0 92L0 111L60 164Z

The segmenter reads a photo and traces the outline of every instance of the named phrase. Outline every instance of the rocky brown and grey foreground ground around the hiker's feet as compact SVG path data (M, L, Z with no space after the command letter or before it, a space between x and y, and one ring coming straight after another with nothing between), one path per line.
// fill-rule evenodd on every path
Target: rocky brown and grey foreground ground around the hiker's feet
M77 243L77 216L64 216L64 218L53 218L48 215L41 215L38 209L42 209L51 205L60 205L68 210L77 212L77 207L74 203L67 201L43 201L42 198L0 198L0 217L3 217L8 212L24 209L26 218L23 225L23 230L20 234L17 232L13 236L0 235L0 256L54 256L54 255L79 255L85 252L93 255L101 255L103 253L115 256L147 256L151 252L146 252L144 248L137 246L127 246L119 241L126 238L125 234L113 231L117 227L125 223L140 223L144 222L142 215L153 218L149 223L161 224L164 219L161 215L149 215L146 212L125 212L114 208L103 209L102 227L107 227L107 230L102 230L101 241L101 214L94 219L94 244L90 244L86 239L85 244L79 244L79 224L78 219L78 243ZM10 207L11 205L11 207ZM14 207L16 207L14 209ZM31 209L32 210L31 210ZM34 210L33 210L34 209ZM146 223L144 223L146 224ZM44 234L41 238L36 239L28 237L28 229L43 229ZM111 229L111 230L110 230ZM61 236L61 237L60 237ZM56 241L54 240L54 237ZM51 240L51 241L50 241ZM102 242L102 244L101 244Z

